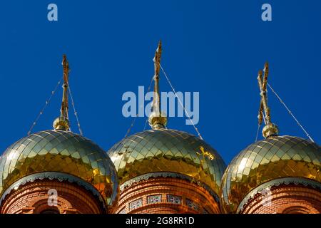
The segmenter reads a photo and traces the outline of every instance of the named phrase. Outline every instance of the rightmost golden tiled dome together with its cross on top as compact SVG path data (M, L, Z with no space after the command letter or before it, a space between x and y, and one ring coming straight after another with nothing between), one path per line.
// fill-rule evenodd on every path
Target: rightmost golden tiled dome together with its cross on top
M267 108L267 78L262 83L261 77L259 73L262 100L258 117L259 124L263 118L266 123L265 139L246 147L228 165L220 193L223 212L240 212L250 197L266 187L292 183L321 189L321 147L311 140L277 135L278 128L270 122Z

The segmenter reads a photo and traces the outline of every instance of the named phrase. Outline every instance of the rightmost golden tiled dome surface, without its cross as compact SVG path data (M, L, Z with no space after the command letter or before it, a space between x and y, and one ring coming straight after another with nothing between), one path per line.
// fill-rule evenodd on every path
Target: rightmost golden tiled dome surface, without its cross
M226 169L220 194L225 212L236 212L248 193L270 180L301 177L321 182L321 147L292 136L270 136L237 155Z

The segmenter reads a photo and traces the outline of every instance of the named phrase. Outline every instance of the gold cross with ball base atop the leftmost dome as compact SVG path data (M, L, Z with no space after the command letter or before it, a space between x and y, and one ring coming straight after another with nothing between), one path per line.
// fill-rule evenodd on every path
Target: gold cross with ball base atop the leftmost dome
M69 80L69 63L66 55L63 55L63 98L61 102L60 116L54 120L55 130L69 130L68 120L68 80Z

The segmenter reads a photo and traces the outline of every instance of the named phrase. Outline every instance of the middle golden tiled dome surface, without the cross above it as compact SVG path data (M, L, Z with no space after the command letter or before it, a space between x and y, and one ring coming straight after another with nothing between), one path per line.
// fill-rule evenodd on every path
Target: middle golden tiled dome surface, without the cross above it
M218 195L226 167L218 152L200 138L162 128L128 136L108 154L120 185L139 175L174 172L204 183Z

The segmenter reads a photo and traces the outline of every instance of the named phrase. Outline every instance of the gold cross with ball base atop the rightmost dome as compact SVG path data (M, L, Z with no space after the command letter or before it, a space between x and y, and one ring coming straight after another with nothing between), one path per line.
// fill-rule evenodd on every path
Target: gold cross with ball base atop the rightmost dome
M264 73L263 73L264 71ZM258 123L262 124L264 120L265 126L262 130L263 136L268 138L271 135L278 135L279 129L277 125L271 123L270 108L267 106L267 76L269 74L269 65L265 63L264 70L258 72L258 84L260 87L260 110L258 114ZM264 112L264 113L263 113Z

